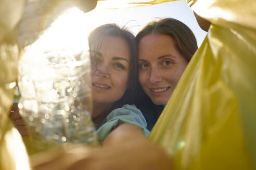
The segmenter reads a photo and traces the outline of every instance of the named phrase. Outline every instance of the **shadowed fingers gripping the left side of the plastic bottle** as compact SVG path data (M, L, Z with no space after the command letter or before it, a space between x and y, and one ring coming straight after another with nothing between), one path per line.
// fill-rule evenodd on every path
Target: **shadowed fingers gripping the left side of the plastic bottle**
M18 103L14 103L12 105L9 118L11 119L12 123L14 123L14 126L19 131L21 136L28 136L28 131L25 127L25 122L19 114Z

